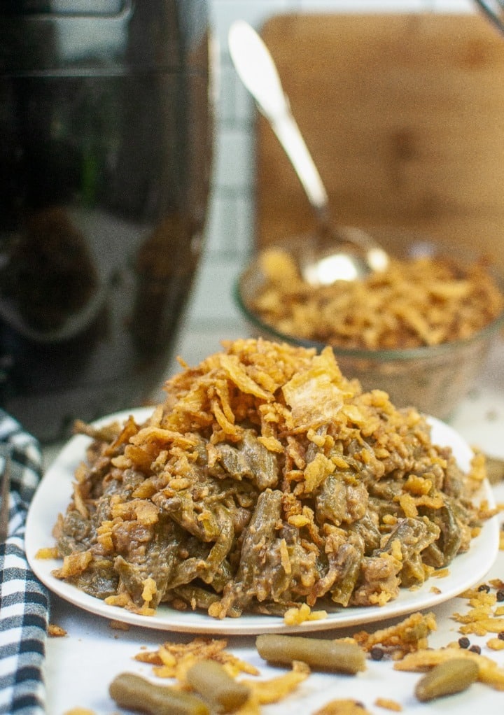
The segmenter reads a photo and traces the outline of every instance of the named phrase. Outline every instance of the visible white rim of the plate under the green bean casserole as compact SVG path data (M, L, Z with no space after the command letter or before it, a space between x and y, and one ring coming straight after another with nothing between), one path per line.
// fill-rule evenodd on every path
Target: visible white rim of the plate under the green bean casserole
M154 408L132 408L130 410L122 410L112 415L106 415L93 424L100 426L107 424L113 420L124 420L129 415L133 415L137 420L144 420L152 414ZM465 439L450 425L444 423L437 418L428 418L433 428L436 430L448 430L447 434L458 440L460 446L465 449L465 460L470 459L473 454ZM435 440L439 443L439 440ZM61 448L54 461L49 465L44 473L41 483L36 489L34 498L29 506L29 511L26 517L25 529L25 550L26 558L34 572L35 576L44 583L44 586L54 593L56 596L63 598L65 601L72 603L74 606L83 609L89 613L94 613L97 616L108 618L111 621L121 621L132 626L140 626L142 628L151 628L159 631L175 631L179 633L200 633L211 635L233 635L233 636L249 636L258 635L259 633L310 633L313 631L333 631L337 628L344 629L350 626L361 626L365 623L374 623L376 621L386 621L397 616L404 616L407 613L414 611L425 611L428 608L439 606L451 598L459 596L460 593L475 586L478 581L484 578L486 573L495 563L499 551L499 524L496 516L491 517L483 524L481 533L473 538L469 550L455 557L458 571L467 573L468 578L458 579L455 584L448 589L443 590L443 584L447 583L448 575L439 581L440 593L434 593L432 586L436 583L435 576L425 581L423 586L415 590L401 589L400 595L393 601L389 601L384 606L352 606L349 608L335 608L335 611L328 611L327 618L322 618L315 621L305 621L297 626L288 626L282 616L267 616L262 614L247 614L245 613L239 618L223 618L219 620L208 616L202 611L177 611L174 608L169 608L166 605L160 605L157 608L154 616L144 616L139 613L132 613L119 606L111 606L104 603L95 596L90 596L84 591L80 591L76 586L71 586L69 583L60 581L51 575L51 571L61 564L61 560L56 559L40 559L36 558L36 551L39 548L51 546L54 543L54 537L51 536L51 531L56 521L57 514L66 508L71 495L71 484L74 480L74 470L76 466L85 458L85 448L89 444L89 438L86 435L74 435ZM466 468L462 465L463 468ZM54 484L53 484L54 482ZM47 501L51 487L63 485L67 488L67 493L58 493L59 501L55 503L55 511L51 516L51 523L48 522L44 526L41 523L41 505L44 505L44 500ZM495 506L495 498L493 490L488 480L482 484L483 493L481 498L485 498L490 508ZM50 495L49 495L50 496ZM64 503L64 507L57 506L59 503ZM57 506L57 508L56 508ZM39 536L44 533L44 538L49 537L51 543L39 543ZM479 548L478 548L479 547ZM475 559L475 551L477 568L468 569L465 562L472 562ZM480 557L480 558L478 558ZM453 563L450 563L448 568L453 568ZM415 596L420 596L420 601L415 602ZM325 608L321 605L320 609ZM314 609L318 610L317 608Z

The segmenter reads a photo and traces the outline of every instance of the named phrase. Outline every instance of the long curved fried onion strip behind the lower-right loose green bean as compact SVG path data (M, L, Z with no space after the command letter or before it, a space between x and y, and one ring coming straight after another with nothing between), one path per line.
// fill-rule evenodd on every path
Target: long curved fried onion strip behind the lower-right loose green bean
M395 670L425 672L453 658L470 658L478 665L478 680L495 690L504 690L504 669L487 656L461 648L425 649L410 653L394 664Z

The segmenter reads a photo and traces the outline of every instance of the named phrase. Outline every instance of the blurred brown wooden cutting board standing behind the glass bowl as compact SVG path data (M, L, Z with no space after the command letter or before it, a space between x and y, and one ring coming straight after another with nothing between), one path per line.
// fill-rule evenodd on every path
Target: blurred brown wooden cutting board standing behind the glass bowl
M337 222L421 230L504 265L504 38L478 14L288 14L262 36ZM313 227L257 117L257 242Z

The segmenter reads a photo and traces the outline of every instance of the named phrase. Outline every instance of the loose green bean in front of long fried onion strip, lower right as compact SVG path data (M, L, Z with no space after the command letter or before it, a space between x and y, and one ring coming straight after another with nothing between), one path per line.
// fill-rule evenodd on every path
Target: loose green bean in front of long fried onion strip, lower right
M467 689L478 679L478 664L470 658L452 658L425 674L417 682L415 696L425 702Z

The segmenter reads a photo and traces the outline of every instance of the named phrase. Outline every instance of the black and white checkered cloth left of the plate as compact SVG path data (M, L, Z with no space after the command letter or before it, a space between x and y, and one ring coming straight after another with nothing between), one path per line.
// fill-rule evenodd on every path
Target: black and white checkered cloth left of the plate
M24 553L28 506L42 473L37 440L0 410L0 474L10 460L9 535L0 542L0 713L42 715L49 595Z

